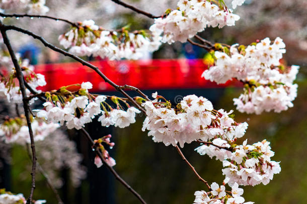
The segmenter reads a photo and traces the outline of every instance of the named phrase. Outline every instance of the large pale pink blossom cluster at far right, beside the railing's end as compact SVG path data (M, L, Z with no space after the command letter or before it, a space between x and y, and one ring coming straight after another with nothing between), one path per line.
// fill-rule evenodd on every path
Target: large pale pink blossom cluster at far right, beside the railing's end
M233 78L245 83L244 93L234 99L240 112L281 112L293 106L297 95L293 81L299 69L299 66L285 67L280 63L285 51L279 37L273 43L265 38L247 47L235 44L228 53L215 51L215 64L202 77L218 84Z

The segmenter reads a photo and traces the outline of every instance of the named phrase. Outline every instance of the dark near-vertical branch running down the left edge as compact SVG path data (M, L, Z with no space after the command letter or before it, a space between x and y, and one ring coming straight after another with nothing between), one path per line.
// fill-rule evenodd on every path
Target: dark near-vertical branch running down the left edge
M34 189L35 189L35 173L36 173L36 152L35 152L35 144L34 144L34 136L33 136L33 130L31 127L31 120L30 120L30 115L29 115L29 103L26 100L27 98L27 94L26 94L26 87L25 87L25 83L24 83L24 77L21 71L21 68L19 66L18 60L16 58L15 52L12 48L12 45L10 43L10 40L8 38L8 35L6 33L6 29L4 24L0 21L0 30L1 30L1 34L3 37L3 41L6 44L9 53L11 55L13 64L15 66L15 70L16 70L16 75L19 81L19 86L20 86L20 90L22 93L22 97L23 97L23 105L24 105L24 111L25 111L25 115L26 115L26 119L27 119L27 124L28 124L28 128L29 128L29 134L30 134L30 140L31 140L31 149L32 149L32 186L31 186L31 192L30 195L27 199L27 204L32 203L32 197L33 197L33 193L34 193Z

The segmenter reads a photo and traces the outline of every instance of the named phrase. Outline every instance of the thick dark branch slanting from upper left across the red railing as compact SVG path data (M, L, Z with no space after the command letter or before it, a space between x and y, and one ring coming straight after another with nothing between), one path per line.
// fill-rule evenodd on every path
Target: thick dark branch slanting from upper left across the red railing
M145 112L145 110L140 106L138 105L126 92L124 92L120 86L118 86L117 84L115 84L114 82L112 82L111 80L109 80L100 70L97 66L94 66L93 64L81 59L80 57L74 55L74 54L71 54L65 50L62 50L50 43L48 43L43 37L39 36L39 35L36 35L35 33L32 33L31 31L28 31L28 30L25 30L25 29L22 29L22 28L19 28L19 27L16 27L16 26L11 26L11 25L4 25L5 29L6 30L16 30L18 32L22 32L22 33L25 33L27 35L30 35L32 36L33 38L35 39L38 39L40 40L46 47L49 47L50 49L56 51L56 52L59 52L65 56L69 56L73 59L75 59L76 61L79 61L82 65L85 65L85 66L88 66L90 67L92 70L94 70L106 83L110 84L112 87L114 87L118 92L120 92L121 94L123 94L126 98L129 99L129 101L131 103L133 103L133 105L135 105L139 110Z

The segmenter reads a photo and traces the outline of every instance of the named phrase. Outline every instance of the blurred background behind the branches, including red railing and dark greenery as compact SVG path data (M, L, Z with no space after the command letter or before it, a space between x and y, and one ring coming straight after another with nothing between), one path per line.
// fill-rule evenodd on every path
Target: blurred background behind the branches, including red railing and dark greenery
M176 8L175 0L156 2L125 1L138 8L160 15L168 8ZM111 1L48 1L50 16L71 21L95 20L107 29L116 29L130 24L131 29L148 28L152 20L117 6ZM268 185L244 187L246 201L256 203L307 203L307 1L305 0L247 0L236 12L241 16L235 27L221 30L208 28L200 35L211 42L227 44L250 44L257 39L281 37L286 43L286 64L300 65L296 80L298 94L294 107L282 113L261 115L242 114L235 110L236 121L249 123L245 137L250 144L263 139L271 142L275 152L273 159L281 161L281 173L274 176ZM43 19L6 19L6 23L21 26L42 35L58 45L57 37L67 31L67 25ZM108 85L88 69L72 62L56 52L42 47L38 41L27 36L9 32L15 50L36 65L36 71L45 74L46 90L62 85L91 81L96 93L117 95ZM240 84L233 82L223 86L200 78L206 69L205 50L189 43L164 44L161 48L138 61L93 60L103 67L103 72L120 85L128 84L144 90L158 91L173 104L183 96L196 94L212 101L214 108L235 109L232 99L242 91ZM61 76L62 75L62 76ZM63 77L64 76L64 77ZM70 80L70 81L69 81ZM68 84L67 84L68 83ZM134 93L129 92L132 96ZM119 96L119 95L118 95ZM38 106L40 104L37 104ZM1 114L8 114L9 104L2 103ZM137 122L124 129L104 128L94 121L87 126L93 138L112 134L115 147L109 151L117 164L114 169L148 203L192 203L196 190L205 190L191 169L182 161L173 147L154 143L147 132L141 131L143 115ZM242 142L242 141L241 141ZM61 144L54 145L52 144ZM196 143L185 145L183 153L198 173L209 183L221 183L220 161L200 156L194 149ZM64 203L137 203L135 197L124 188L110 172L94 165L95 154L81 133L62 129L50 135L48 141L37 143L38 161L47 171L52 183L58 188ZM7 146L0 143L0 188L28 195L31 162L25 147ZM56 203L44 177L37 173L34 198L43 198L47 203Z

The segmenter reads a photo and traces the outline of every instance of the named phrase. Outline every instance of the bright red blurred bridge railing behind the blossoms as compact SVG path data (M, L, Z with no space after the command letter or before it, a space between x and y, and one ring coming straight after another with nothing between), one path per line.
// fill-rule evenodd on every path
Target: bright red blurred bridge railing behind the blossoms
M102 60L91 63L99 67L114 83L127 84L142 90L241 86L238 81L217 85L201 78L201 74L207 69L202 59ZM79 62L40 64L35 66L35 72L45 75L45 91L87 81L93 84L93 92L114 91L93 70Z

